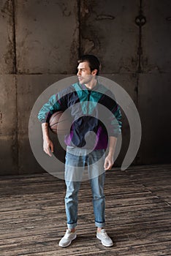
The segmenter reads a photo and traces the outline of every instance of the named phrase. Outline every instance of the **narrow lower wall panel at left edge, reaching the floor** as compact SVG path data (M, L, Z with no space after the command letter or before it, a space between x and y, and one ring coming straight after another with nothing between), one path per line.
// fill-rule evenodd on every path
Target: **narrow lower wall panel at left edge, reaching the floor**
M18 172L15 75L0 75L0 173Z

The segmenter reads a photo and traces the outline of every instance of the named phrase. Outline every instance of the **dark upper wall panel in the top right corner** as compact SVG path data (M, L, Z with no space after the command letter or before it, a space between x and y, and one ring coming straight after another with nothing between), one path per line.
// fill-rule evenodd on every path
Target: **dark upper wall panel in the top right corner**
M171 72L171 1L142 1L143 72Z

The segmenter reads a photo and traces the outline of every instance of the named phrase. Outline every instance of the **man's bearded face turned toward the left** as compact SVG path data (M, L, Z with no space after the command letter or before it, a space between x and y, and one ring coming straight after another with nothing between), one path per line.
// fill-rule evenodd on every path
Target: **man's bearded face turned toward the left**
M89 83L93 78L96 72L91 72L91 69L89 67L89 64L87 61L81 62L77 66L77 77L81 84L83 83Z

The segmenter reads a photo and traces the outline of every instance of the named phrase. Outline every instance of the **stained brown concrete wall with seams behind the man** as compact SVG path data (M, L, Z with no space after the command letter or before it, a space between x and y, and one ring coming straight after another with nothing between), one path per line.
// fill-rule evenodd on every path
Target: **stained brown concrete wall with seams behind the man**
M170 0L1 0L0 10L0 175L42 171L28 141L31 109L48 86L75 75L83 53L98 56L101 75L137 105L134 165L170 162ZM116 165L128 146L123 113Z

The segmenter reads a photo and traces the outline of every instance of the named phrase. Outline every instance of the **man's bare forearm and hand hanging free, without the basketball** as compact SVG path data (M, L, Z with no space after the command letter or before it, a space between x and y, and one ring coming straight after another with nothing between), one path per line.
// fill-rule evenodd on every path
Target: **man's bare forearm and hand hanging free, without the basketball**
M111 170L114 164L114 154L115 154L115 146L116 146L117 138L114 136L109 137L109 152L104 161L104 170Z

